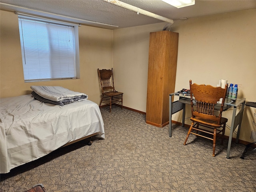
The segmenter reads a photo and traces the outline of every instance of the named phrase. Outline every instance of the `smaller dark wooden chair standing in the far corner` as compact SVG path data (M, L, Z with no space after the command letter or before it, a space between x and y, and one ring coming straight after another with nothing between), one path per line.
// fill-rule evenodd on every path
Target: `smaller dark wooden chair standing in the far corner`
M114 87L114 77L113 68L110 69L98 69L98 75L100 78L100 85L102 90L102 98L100 100L100 106L102 103L108 104L110 106L110 112L112 104L121 104L123 108L123 94L118 92Z

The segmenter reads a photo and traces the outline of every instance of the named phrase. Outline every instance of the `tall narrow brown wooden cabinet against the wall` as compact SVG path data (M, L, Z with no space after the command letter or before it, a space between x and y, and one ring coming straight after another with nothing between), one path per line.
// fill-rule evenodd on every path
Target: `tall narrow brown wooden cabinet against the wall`
M150 33L146 123L169 124L169 94L174 92L178 56L178 33Z

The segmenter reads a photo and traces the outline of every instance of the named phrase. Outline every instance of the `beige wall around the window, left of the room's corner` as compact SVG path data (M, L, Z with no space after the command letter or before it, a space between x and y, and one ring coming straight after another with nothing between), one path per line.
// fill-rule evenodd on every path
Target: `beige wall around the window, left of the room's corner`
M63 86L88 94L100 103L97 68L112 68L113 30L81 26L79 32L80 79L24 82L18 16L0 11L0 97L30 94L32 85Z

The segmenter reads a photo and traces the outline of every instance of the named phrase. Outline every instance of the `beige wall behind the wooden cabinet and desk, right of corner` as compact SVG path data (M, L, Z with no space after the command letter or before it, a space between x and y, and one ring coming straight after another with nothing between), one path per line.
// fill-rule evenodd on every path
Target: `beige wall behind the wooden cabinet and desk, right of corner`
M161 31L165 24L114 30L113 65L116 87L124 92L124 106L146 112L149 33ZM189 88L190 79L214 86L227 79L240 84L238 97L256 101L256 9L174 21L171 31L179 33L176 91ZM242 140L252 142L254 112L255 108L245 109ZM232 110L224 116L230 126ZM173 120L181 122L181 117L181 113L174 114ZM185 123L190 124L189 107L186 117Z

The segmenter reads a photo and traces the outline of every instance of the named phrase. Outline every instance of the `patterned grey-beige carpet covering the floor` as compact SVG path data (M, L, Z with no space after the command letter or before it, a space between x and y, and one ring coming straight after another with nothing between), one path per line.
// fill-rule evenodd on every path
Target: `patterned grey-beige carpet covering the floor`
M130 110L101 108L105 140L81 141L1 175L0 191L22 192L41 183L47 192L256 192L256 152L245 145L216 144L173 125L157 128Z

